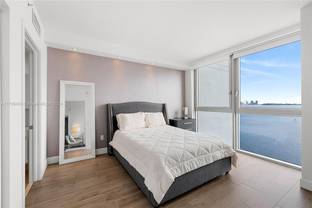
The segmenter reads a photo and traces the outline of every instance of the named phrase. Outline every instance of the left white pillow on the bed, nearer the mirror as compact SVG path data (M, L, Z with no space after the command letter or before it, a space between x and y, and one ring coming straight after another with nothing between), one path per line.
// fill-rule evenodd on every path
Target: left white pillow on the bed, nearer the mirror
M117 126L121 131L145 128L145 113L119 113L116 115Z

